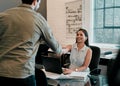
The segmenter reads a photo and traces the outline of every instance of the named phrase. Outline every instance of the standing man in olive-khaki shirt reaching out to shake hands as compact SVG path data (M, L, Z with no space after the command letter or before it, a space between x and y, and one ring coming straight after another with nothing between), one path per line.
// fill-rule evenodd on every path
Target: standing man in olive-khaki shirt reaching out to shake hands
M61 54L49 25L36 12L40 2L22 0L22 5L0 13L0 82L4 86L36 86L35 56L41 38Z

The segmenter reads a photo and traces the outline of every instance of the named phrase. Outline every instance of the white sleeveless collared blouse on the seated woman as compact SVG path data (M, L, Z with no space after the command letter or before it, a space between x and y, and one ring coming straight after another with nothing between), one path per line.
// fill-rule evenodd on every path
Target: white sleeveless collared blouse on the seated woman
M73 44L72 49L71 49L71 54L70 54L70 68L72 69L76 69L80 66L82 66L82 64L84 63L87 51L88 51L89 47L87 47L86 45L80 49L78 51L77 48L77 44ZM88 71L89 72L89 68L87 68L84 71Z

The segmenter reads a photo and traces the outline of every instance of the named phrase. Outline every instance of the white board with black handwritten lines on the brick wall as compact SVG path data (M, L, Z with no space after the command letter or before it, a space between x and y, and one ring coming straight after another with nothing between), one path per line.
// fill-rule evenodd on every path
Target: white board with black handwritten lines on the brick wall
M66 7L66 36L75 37L82 26L82 0L65 3Z

